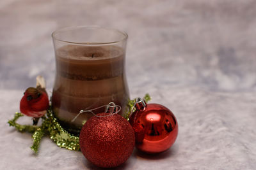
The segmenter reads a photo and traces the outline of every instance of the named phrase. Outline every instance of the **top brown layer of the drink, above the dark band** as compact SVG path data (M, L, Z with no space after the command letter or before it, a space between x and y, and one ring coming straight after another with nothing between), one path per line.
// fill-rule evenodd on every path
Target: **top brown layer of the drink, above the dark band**
M64 46L56 52L56 70L73 80L102 80L123 74L124 52L116 46Z

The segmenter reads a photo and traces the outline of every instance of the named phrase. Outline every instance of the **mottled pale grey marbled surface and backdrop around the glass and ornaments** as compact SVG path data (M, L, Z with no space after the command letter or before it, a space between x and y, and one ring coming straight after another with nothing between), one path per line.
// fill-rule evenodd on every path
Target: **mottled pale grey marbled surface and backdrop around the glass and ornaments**
M179 123L170 150L134 150L116 169L256 169L255 8L252 0L1 0L0 169L99 169L49 138L34 155L31 135L6 124L38 74L51 92L51 32L70 25L126 31L131 97L148 92Z

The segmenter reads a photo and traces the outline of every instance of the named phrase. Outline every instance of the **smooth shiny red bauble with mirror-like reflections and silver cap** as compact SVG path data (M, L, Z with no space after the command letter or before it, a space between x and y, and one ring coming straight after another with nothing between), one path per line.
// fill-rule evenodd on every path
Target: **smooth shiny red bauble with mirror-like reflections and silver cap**
M146 153L168 150L178 135L178 123L172 111L161 104L136 99L136 111L129 122L136 136L136 148Z

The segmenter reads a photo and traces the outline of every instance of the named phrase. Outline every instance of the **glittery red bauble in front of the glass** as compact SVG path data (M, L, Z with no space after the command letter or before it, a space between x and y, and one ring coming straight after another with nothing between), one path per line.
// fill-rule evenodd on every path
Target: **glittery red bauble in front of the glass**
M135 145L129 122L118 114L109 114L99 113L99 117L90 118L79 136L84 157L99 167L116 167L124 163Z

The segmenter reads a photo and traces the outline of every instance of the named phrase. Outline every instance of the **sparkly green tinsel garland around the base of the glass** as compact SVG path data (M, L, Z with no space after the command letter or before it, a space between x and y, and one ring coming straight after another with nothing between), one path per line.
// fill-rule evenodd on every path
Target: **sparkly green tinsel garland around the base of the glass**
M145 101L148 102L151 98L148 94L144 97ZM134 104L136 102L136 99L130 100L127 104L129 110L127 111L127 114L125 118L127 120L129 119L130 113L132 113L135 108ZM8 121L8 124L10 126L13 126L17 129L19 132L29 132L32 133L33 138L33 145L31 146L31 149L37 153L38 148L40 145L40 141L43 136L50 136L50 138L57 144L57 146L60 146L61 148L66 148L68 150L80 150L79 148L79 137L74 136L73 134L70 134L65 129L61 127L61 125L58 123L58 119L54 117L52 113L52 109L49 108L47 110L47 117L42 117L42 125L36 126L36 125L20 125L17 124L16 121L23 117L22 113L15 113L15 116L12 120Z

